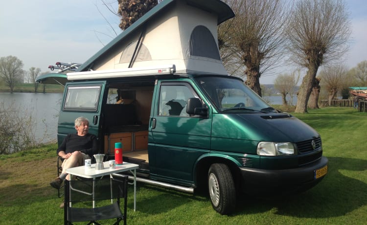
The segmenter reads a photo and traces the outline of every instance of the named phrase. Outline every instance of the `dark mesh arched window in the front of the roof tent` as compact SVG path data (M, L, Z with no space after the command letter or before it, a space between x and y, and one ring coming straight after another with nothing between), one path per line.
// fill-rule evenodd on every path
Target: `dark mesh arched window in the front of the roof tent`
M190 37L190 55L221 60L217 44L210 30L203 25L196 26Z

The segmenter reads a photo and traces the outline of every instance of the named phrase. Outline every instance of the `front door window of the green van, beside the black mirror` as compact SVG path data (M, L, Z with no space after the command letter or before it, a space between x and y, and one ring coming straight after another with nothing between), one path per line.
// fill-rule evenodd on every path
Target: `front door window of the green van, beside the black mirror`
M192 91L184 85L162 85L160 90L159 115L189 116L186 113L187 99L193 98Z

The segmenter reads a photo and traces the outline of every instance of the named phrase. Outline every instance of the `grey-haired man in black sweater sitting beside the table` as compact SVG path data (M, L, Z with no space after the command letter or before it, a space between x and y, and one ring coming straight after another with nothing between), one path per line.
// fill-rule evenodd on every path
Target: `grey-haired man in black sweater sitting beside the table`
M62 173L50 182L50 185L56 189L60 188L65 179L69 180L69 175L66 173L67 169L84 165L85 159L92 158L94 154L98 153L97 137L88 133L88 119L78 117L74 124L76 134L67 135L57 149L57 155L63 158L64 161ZM63 205L60 205L60 207Z

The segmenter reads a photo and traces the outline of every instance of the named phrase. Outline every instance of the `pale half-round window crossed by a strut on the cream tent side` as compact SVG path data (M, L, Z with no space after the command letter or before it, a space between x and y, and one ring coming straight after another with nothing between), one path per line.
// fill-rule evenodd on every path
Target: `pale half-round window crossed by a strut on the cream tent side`
M133 57L135 48L137 46L137 42L130 43L126 46L126 48L122 51L120 63L130 63L131 57ZM147 61L151 60L150 52L148 48L144 44L140 44L140 46L137 49L137 56L135 57L134 62L141 62L141 61Z

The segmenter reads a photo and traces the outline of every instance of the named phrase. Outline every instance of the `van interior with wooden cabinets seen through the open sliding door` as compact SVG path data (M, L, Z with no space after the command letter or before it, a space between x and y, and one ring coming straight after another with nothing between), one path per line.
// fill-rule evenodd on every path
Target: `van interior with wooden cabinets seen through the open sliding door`
M123 160L148 166L148 126L154 80L109 83L102 107L104 154L115 155L122 143Z

